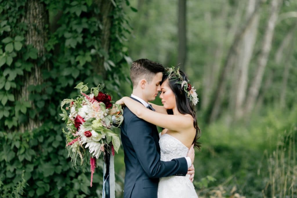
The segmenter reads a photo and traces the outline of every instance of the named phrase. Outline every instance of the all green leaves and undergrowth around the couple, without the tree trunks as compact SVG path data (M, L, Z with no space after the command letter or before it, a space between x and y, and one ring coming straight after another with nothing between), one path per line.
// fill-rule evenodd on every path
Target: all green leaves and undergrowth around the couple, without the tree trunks
M176 65L178 1L111 0L115 7L110 13L113 18L110 50L104 51L101 46L103 27L96 17L100 9L93 1L42 0L49 14L48 41L42 57L38 57L36 48L26 44L28 27L21 18L28 1L0 0L0 196L100 197L102 163L95 171L90 188L89 166L73 169L67 157L61 132L64 124L59 116L61 100L75 98L78 92L73 87L79 82L88 83L89 87L105 83L103 91L113 95L114 101L129 95L132 90L129 65L135 59L148 58L165 67ZM225 31L235 20L234 15L224 19L221 10L228 4L234 12L236 2L187 1L186 73L200 98L203 98L204 66L214 59L212 49L224 40L223 50L228 51L232 42ZM266 28L269 3L265 1L262 5L257 35L260 40ZM284 0L281 13L295 10L296 1ZM59 13L58 28L53 30L51 26ZM209 13L213 16L211 23L206 20ZM198 103L198 124L202 129L199 142L203 146L195 156L194 185L199 197L220 197L219 194L234 197L236 193L246 197L271 197L272 190L277 197L282 197L284 190L290 197L296 196L297 48L292 53L285 108L278 105L283 65L275 64L273 57L293 23L292 19L287 19L276 26L272 55L266 67L266 71L275 74L272 86L248 122L230 121L228 101L224 101L220 118L207 124L204 122L206 112ZM260 48L261 43L256 43L252 59L256 59ZM98 75L94 67L102 57L106 74ZM224 59L222 57L221 62ZM49 68L44 67L45 62L49 62ZM33 63L43 68L44 82L28 87L29 100L34 104L31 106L15 95L19 95L23 87L23 78L31 74ZM252 61L251 74L256 66ZM227 87L230 91L230 85ZM155 102L161 104L158 98ZM29 118L41 120L42 126L20 133L18 128ZM115 169L116 197L122 197L125 171L122 147L115 157ZM280 174L283 170L286 172ZM275 179L280 182L285 178L293 185L275 185L282 188L273 185Z

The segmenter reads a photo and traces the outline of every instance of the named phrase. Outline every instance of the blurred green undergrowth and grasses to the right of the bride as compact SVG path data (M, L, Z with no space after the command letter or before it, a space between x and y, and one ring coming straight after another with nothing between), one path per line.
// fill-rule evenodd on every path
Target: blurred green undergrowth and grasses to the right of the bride
M284 115L279 109L267 108L253 115L248 125L241 122L226 125L226 118L206 127L202 123L200 127L203 131L199 141L203 144L194 162L194 184L200 197L208 197L213 190L224 191L224 197L228 197L232 195L234 186L236 192L246 197L263 197L262 191L270 197L272 176L279 182L279 179L285 181L285 174L289 175L288 184L279 193L283 193L284 189L288 192L296 164L296 156L294 158L293 154L288 153L294 150L293 141L296 150L297 138L293 134L297 133L297 106L291 110ZM279 150L277 156L276 150ZM284 150L287 153L281 158L281 154L285 153L281 151ZM279 167L290 171L286 171L282 178L278 177L277 174L282 173ZM209 182L208 176L216 180Z

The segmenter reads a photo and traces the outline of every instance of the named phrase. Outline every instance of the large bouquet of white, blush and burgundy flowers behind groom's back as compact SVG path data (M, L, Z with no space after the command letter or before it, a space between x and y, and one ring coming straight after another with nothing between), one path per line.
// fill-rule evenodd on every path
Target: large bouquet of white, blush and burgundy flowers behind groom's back
M80 95L61 102L63 113L60 115L67 124L67 131L64 128L62 131L66 134L66 148L74 167L78 162L83 165L90 156L92 186L96 159L101 153L104 158L106 153L114 155L119 150L120 139L112 128L121 125L123 110L117 104L111 108L111 96L100 91L103 85L91 88L89 95L83 93L89 88L82 82L75 88L80 89Z

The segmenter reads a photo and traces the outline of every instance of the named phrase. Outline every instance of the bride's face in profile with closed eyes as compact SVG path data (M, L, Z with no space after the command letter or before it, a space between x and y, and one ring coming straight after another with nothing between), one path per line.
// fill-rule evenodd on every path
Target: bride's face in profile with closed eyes
M160 98L165 109L174 109L176 106L175 95L168 85L168 79L161 85Z

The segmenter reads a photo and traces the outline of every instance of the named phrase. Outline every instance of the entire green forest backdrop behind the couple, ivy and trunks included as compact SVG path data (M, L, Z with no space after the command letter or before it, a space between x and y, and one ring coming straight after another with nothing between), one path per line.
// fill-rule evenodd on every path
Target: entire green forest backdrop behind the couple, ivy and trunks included
M90 188L67 158L60 103L81 81L130 95L147 58L197 89L199 197L297 197L296 36L296 0L0 0L0 196L102 196L103 162Z

